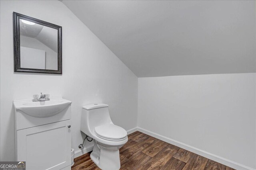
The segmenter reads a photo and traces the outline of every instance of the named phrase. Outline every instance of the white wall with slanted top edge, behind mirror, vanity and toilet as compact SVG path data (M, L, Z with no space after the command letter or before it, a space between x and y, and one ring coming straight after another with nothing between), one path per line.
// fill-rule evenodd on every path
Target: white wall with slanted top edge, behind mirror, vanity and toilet
M14 73L12 12L62 26L63 74ZM13 100L33 94L72 103L72 147L82 143L82 106L109 104L116 125L137 125L138 78L60 1L0 1L0 158L14 160ZM88 146L88 142L86 142ZM90 144L92 145L92 144Z

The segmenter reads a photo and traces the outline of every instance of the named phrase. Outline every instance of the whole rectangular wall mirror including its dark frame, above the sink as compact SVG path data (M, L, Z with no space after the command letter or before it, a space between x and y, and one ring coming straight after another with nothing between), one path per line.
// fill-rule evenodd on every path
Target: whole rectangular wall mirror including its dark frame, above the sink
M14 72L62 74L62 27L13 12Z

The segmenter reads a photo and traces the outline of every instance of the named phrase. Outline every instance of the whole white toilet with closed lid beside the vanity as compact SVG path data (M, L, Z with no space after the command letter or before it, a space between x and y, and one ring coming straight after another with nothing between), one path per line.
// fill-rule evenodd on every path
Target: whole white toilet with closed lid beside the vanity
M111 121L107 104L83 106L81 131L94 139L90 158L100 169L120 169L119 149L128 137L126 130Z

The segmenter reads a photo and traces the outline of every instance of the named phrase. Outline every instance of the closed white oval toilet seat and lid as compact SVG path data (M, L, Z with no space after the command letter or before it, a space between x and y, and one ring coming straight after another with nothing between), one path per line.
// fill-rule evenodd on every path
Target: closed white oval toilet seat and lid
M126 130L111 123L95 127L95 134L108 141L123 141L127 137Z

